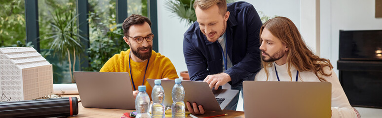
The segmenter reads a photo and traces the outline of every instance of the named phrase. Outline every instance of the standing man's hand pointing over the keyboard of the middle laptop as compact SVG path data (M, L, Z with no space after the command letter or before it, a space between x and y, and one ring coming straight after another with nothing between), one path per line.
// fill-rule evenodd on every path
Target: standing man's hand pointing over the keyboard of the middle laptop
M215 90L217 90L219 86L225 85L231 81L231 77L227 73L219 73L208 75L203 81L207 82L211 89L215 87Z

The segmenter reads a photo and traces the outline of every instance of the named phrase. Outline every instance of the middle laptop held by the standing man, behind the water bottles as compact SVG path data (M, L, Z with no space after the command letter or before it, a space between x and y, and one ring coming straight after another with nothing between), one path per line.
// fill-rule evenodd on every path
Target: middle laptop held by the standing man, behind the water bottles
M154 80L147 79L151 87L154 87ZM164 89L164 106L171 107L172 98L171 91L175 85L174 80L162 80L161 86ZM218 89L212 90L207 82L201 81L182 81L182 86L185 88L184 102L195 102L197 105L202 105L206 111L222 111L229 102L235 97L238 90Z

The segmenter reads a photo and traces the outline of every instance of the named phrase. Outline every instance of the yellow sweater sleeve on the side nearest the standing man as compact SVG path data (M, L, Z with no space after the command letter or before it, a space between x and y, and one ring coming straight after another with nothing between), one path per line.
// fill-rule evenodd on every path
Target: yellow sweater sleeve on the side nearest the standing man
M164 65L162 66L163 72L162 72L162 78L168 78L170 80L174 80L178 77L178 74L176 72L174 64L172 64L171 60L167 57L163 59Z

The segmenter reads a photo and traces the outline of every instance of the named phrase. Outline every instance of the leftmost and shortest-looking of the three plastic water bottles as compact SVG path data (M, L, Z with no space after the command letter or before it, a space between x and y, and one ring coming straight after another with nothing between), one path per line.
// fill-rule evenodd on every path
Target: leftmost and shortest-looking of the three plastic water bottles
M150 97L146 92L146 86L139 86L138 90L139 93L135 98L135 110L137 110L135 118L151 118L149 113Z

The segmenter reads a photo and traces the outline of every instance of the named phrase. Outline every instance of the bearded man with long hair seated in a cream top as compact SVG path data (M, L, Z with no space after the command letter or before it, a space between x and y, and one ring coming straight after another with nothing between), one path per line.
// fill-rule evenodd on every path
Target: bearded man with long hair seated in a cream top
M357 118L329 59L306 46L295 24L286 17L269 19L260 29L263 69L255 81L302 81L332 83L332 118Z

